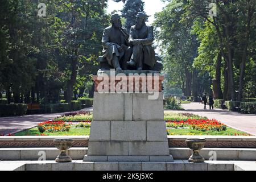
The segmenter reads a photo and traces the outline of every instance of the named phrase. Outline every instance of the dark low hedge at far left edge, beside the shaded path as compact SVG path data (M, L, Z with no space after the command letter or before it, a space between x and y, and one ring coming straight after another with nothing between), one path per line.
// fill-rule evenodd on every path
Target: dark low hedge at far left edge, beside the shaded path
M0 117L24 115L27 113L27 104L0 104Z

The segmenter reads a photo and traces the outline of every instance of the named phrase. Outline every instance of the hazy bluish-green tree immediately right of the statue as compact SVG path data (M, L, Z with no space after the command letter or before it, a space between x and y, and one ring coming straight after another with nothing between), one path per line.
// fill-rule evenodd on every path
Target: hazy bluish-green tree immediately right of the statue
M164 58L164 73L170 75L169 81L179 84L185 96L191 96L192 88L197 98L197 72L193 70L193 59L197 56L199 46L195 35L191 35L192 22L183 23L184 5L179 1L172 1L164 10L155 15L154 26L156 39L166 52ZM194 76L192 76L194 75ZM192 86L192 82L195 86Z

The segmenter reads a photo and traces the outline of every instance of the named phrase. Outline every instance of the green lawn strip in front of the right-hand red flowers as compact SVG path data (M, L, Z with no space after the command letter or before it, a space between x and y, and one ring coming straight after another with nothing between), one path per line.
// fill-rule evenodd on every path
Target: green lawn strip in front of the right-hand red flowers
M232 128L227 128L226 131L199 131L192 129L168 129L168 135L245 135L249 136L249 134L238 131Z

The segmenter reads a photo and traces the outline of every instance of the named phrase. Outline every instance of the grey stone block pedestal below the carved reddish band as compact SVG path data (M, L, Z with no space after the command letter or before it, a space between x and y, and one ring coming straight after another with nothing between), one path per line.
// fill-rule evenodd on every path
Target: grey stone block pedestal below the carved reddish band
M100 82L96 77L94 81ZM158 97L149 100L152 93L94 92L93 122L84 161L172 162L163 93L157 90L154 94Z

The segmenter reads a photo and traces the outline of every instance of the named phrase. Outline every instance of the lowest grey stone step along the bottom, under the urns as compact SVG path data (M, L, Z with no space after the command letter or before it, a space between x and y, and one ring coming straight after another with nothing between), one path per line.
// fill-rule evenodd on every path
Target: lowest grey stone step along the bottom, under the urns
M47 161L0 161L0 171L256 171L255 162L209 161L188 163L174 162L82 162Z

